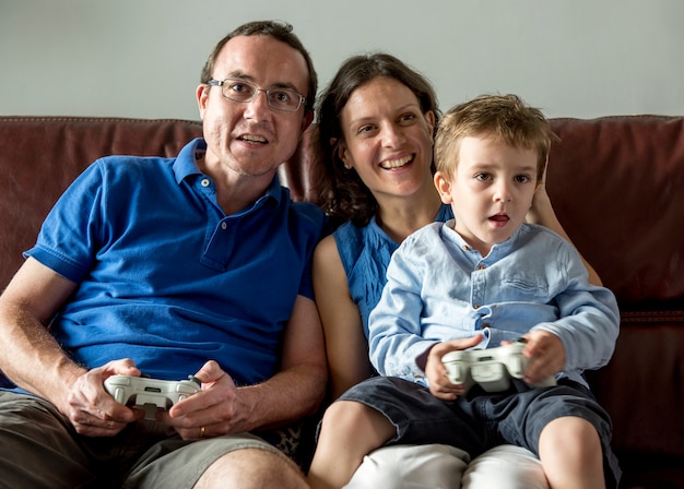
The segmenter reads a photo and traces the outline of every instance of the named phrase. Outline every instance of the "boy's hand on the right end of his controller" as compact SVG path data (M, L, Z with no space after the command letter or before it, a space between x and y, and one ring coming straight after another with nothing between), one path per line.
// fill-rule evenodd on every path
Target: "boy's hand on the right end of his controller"
M565 366L565 347L561 338L543 330L532 331L524 335L527 345L522 355L527 357L524 369L527 383L541 382L563 370Z

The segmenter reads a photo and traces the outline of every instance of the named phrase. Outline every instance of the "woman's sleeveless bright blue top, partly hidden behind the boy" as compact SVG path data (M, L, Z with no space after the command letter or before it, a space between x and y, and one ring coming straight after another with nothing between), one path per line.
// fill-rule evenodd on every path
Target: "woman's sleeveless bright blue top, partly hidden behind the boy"
M451 206L443 204L435 222L453 218ZM378 226L375 216L363 227L345 223L334 231L342 266L352 299L358 306L368 337L368 315L376 307L387 283L387 266L399 243Z

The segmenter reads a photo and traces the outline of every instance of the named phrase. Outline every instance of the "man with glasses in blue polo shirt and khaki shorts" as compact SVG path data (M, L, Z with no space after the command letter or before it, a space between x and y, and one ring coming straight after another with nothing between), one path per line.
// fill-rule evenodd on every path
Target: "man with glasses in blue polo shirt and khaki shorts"
M222 39L197 88L204 139L103 158L47 217L0 296L0 369L19 387L0 393L4 484L306 487L248 433L315 412L327 380L309 277L325 217L275 178L317 85L291 31ZM103 386L141 373L201 391L145 420Z

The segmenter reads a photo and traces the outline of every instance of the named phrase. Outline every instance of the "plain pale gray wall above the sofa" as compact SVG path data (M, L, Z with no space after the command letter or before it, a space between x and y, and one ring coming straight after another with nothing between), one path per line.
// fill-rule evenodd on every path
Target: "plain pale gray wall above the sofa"
M197 119L205 57L255 19L292 23L321 85L387 50L443 109L510 92L550 117L684 115L681 0L0 0L0 115Z

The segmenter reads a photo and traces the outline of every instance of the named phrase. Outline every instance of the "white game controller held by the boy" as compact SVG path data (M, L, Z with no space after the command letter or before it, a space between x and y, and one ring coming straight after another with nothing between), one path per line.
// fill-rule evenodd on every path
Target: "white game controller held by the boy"
M522 356L523 338L487 349L468 349L450 351L441 357L447 368L447 375L452 384L463 384L465 392L473 385L482 386L486 392L506 391L510 379L522 379L528 359ZM556 379L550 377L528 384L531 387L556 385Z

